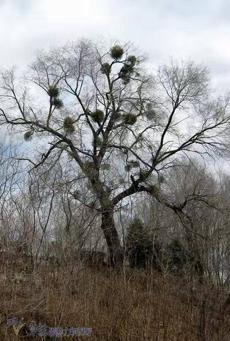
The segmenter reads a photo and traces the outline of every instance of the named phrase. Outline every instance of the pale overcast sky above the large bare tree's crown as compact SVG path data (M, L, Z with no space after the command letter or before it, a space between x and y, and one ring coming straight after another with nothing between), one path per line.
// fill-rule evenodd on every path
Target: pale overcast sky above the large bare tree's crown
M159 64L169 56L207 64L230 90L227 0L0 0L0 64L27 64L38 48L79 36L131 40Z

